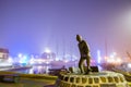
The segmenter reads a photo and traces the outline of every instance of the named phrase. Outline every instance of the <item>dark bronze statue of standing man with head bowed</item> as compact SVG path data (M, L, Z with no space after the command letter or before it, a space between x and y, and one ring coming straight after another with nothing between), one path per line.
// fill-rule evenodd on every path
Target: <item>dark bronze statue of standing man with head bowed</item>
M76 40L79 41L79 50L81 54L81 59L79 61L79 67L81 70L81 73L88 74L91 71L90 63L91 63L91 53L90 48L85 40L82 39L80 35L76 35ZM84 61L86 60L87 71L84 71Z

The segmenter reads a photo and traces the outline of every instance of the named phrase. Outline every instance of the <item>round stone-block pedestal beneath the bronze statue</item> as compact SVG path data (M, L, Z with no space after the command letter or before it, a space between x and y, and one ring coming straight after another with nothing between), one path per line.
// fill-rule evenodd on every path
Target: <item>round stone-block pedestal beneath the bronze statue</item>
M60 74L55 87L128 87L128 83L122 74L115 72L67 73Z

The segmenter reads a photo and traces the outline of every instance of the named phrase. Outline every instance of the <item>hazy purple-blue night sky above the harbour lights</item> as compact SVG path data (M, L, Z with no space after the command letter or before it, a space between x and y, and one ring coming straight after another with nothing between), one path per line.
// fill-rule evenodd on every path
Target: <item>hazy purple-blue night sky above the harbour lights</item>
M79 55L75 35L105 55L131 52L131 0L0 0L0 47L11 54Z

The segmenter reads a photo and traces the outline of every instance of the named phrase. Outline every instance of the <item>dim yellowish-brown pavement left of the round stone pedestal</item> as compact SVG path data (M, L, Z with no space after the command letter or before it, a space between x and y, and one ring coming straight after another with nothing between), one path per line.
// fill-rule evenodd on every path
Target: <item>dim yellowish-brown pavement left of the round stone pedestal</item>
M53 87L55 80L22 78L20 83L0 83L0 87Z

